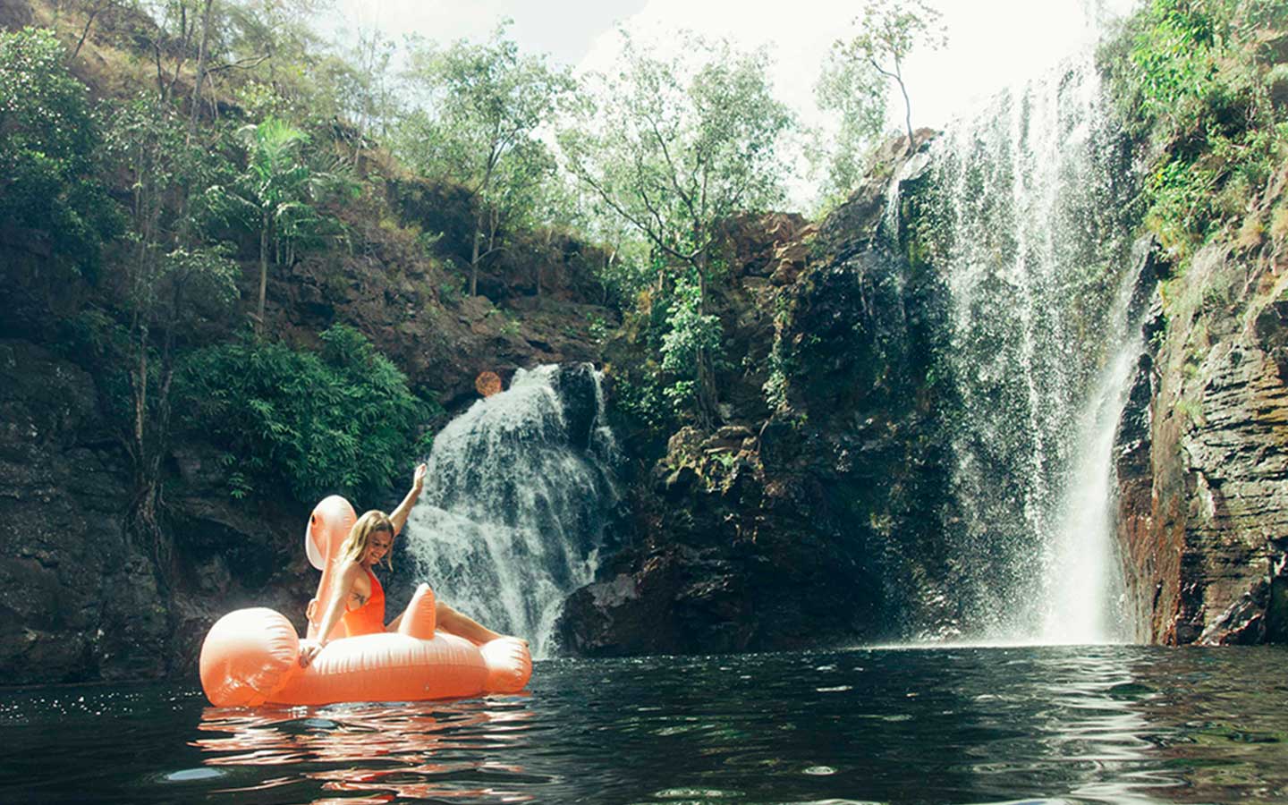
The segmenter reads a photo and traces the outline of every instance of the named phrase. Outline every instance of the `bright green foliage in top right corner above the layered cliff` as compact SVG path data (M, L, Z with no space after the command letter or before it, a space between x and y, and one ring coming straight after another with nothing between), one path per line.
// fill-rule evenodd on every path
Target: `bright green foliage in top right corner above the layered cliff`
M1270 98L1265 33L1288 28L1275 0L1153 0L1104 50L1124 120L1160 155L1146 223L1181 263L1242 228L1288 158L1288 121Z

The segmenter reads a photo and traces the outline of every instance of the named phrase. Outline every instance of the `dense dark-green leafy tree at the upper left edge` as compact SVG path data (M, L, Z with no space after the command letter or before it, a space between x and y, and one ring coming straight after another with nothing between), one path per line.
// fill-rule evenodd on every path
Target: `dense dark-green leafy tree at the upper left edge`
M0 225L43 232L81 272L120 216L95 171L99 125L46 28L0 31Z

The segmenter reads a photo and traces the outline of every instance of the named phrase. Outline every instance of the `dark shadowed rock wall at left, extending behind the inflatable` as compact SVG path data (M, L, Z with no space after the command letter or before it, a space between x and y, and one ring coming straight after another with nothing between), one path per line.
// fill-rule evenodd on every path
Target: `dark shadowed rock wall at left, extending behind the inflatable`
M283 550L307 513L232 501L215 451L179 450L167 501L175 567L124 524L129 459L94 380L50 350L0 340L0 668L6 684L192 677L201 639L251 603L303 613ZM205 461L202 459L206 459ZM287 526L287 522L290 526ZM294 563L299 564L299 562Z

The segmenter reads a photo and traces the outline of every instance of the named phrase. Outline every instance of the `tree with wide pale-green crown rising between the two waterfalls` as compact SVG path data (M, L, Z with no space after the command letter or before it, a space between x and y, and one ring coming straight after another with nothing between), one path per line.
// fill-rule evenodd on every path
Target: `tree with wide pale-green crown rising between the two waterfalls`
M661 264L679 265L663 341L663 355L674 358L663 363L692 367L674 389L692 389L708 424L720 331L707 296L719 224L782 198L777 148L793 120L773 97L764 52L689 37L684 57L663 61L625 39L622 72L596 79L559 143L569 170L648 241ZM667 285L663 273L658 290Z

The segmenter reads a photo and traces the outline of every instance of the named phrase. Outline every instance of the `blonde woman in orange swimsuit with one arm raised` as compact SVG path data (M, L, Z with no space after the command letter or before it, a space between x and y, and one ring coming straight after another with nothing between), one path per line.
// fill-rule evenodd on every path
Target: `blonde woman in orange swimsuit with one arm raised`
M343 620L349 636L368 635L381 631L397 631L403 616L399 614L385 626L385 591L372 568L390 556L394 537L407 524L407 515L416 505L421 489L425 488L428 466L416 468L411 491L390 514L367 511L349 529L349 536L340 545L339 576L335 581L336 594L331 596L317 640L300 641L300 665L307 666L326 645L326 635L331 634L336 622ZM386 562L389 567L392 563ZM438 601L434 609L437 629L460 635L471 643L483 644L501 635L469 617Z

